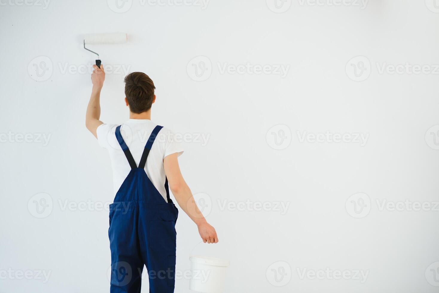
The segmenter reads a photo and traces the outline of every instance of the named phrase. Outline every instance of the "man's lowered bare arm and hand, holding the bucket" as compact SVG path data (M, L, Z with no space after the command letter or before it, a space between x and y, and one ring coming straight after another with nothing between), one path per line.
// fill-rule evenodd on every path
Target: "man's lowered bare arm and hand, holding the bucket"
M217 243L218 236L216 235L215 228L209 225L198 209L194 197L192 197L191 189L189 189L189 186L187 186L183 179L183 175L181 175L180 166L178 165L178 154L174 153L166 156L163 160L163 167L169 181L169 188L183 211L197 224L198 232L204 243Z

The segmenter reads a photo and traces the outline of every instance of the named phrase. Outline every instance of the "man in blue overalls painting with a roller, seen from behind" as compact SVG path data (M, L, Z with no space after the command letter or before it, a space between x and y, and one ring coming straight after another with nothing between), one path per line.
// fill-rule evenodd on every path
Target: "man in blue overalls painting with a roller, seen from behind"
M151 121L154 83L148 75L133 72L125 77L125 103L130 120L122 125L99 120L99 98L104 84L103 67L93 65L93 89L86 113L86 127L110 154L115 199L110 205L111 293L140 292L144 265L151 293L172 293L175 285L178 210L169 188L183 211L198 226L206 243L217 243L180 172L177 157L182 148L169 129Z

